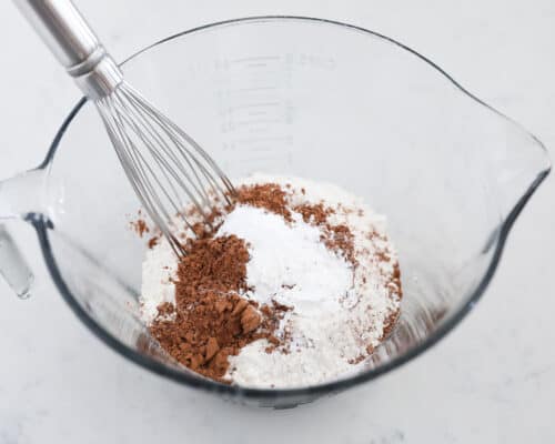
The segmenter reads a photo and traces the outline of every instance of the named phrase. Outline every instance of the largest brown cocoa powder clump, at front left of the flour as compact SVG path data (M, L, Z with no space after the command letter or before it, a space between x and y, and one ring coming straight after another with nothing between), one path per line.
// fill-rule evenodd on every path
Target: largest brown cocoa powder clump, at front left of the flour
M152 335L176 361L222 381L228 356L260 340L274 336L286 307L258 303L240 295L246 290L249 252L243 240L231 235L189 239L178 268L175 305L159 306ZM225 381L222 381L225 382Z

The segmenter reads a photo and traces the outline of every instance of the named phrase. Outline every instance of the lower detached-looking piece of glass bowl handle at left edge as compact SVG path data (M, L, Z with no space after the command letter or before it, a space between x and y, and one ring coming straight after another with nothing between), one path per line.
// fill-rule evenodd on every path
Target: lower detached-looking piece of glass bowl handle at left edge
M12 236L0 224L0 274L21 299L31 295L34 275Z

